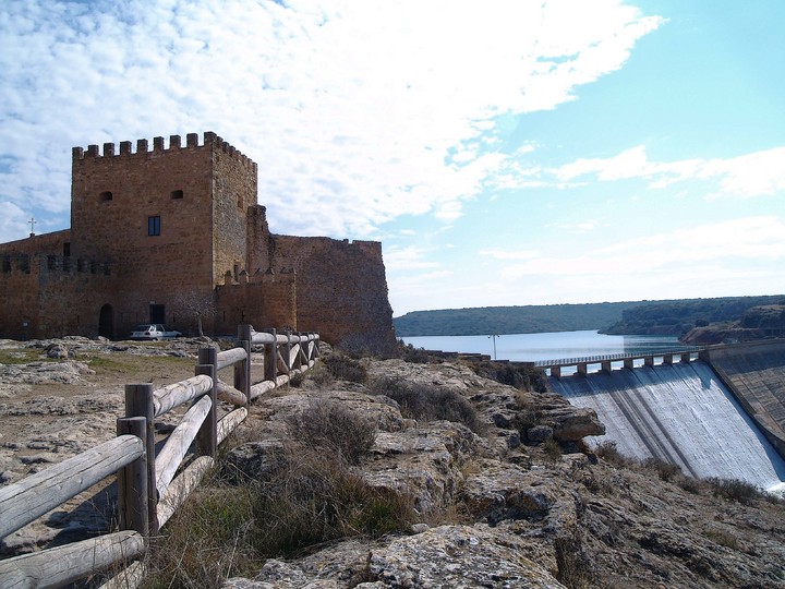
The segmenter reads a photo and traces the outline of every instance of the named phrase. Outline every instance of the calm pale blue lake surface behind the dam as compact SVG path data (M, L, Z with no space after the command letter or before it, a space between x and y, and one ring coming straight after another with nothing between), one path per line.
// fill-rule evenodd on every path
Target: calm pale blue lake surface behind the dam
M609 336L597 332L556 332L491 336L419 336L402 337L406 344L426 350L485 353L517 362L560 360L608 353L673 350L684 347L676 336Z

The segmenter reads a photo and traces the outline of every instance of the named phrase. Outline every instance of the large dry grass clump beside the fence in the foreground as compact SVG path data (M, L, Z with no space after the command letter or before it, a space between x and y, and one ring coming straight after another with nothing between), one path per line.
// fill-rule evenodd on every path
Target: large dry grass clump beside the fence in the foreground
M147 588L218 588L253 577L265 558L287 558L350 537L402 532L418 520L411 497L369 485L340 456L292 445L265 480L198 488L153 541Z

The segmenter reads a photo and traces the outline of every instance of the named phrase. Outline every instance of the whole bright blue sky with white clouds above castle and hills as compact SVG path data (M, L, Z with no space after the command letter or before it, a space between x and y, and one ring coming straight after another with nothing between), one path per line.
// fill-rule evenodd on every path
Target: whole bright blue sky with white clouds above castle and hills
M785 293L782 0L0 2L0 241L71 147L215 131L396 315ZM135 143L134 143L135 145Z

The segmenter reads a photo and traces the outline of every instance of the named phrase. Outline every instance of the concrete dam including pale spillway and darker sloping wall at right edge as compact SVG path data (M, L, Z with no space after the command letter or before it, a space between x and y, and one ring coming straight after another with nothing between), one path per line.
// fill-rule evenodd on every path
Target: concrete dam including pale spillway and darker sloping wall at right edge
M551 376L550 383L605 424L606 434L588 438L590 444L613 441L628 457L655 457L688 476L739 479L781 493L785 460L772 443L782 445L785 344L750 349Z

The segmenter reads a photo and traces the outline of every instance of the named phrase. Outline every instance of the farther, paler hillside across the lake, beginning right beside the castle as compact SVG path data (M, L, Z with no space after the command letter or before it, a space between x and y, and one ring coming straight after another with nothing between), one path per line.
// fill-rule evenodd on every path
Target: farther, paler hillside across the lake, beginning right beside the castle
M392 318L398 337L426 335L536 334L602 329L643 302L483 306L412 311Z

